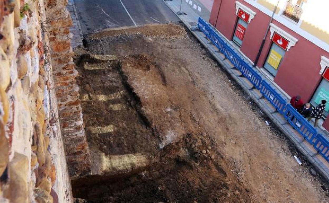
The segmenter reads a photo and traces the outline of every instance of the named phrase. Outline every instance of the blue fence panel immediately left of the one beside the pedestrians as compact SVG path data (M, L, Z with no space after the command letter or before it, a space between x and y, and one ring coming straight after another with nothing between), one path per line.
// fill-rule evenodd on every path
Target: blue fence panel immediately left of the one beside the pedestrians
M282 98L267 82L266 80L262 81L261 93L263 96L276 108L278 112L283 114L285 107L287 105L286 100Z

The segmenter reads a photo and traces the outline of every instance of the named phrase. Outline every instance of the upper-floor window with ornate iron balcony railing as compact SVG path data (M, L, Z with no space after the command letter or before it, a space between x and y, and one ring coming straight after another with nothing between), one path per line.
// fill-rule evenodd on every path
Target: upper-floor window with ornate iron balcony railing
M300 16L303 13L304 3L306 2L307 0L288 0L286 8L282 14L298 23Z

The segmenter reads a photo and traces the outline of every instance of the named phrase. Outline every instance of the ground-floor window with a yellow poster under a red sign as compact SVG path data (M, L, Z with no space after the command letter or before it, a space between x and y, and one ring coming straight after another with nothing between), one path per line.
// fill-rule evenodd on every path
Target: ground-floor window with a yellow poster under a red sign
M276 43L272 43L272 46L268 52L264 68L273 76L276 76L280 63L286 53L286 50L282 49Z

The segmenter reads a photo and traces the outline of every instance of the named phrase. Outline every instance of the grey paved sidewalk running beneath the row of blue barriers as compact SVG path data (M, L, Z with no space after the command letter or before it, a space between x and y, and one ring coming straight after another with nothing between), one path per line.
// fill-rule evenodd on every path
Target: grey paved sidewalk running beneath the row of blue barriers
M180 0L165 1L167 6L176 13L179 11ZM177 15L184 24L191 29L191 27L197 25L199 13L190 7L185 1L182 4L182 12L186 15ZM209 19L206 17L205 19ZM191 31L192 32L192 31ZM219 33L219 32L218 32ZM257 89L252 89L253 85L248 81L247 78L241 77L241 73L234 65L225 58L225 56L218 52L218 49L205 37L202 32L192 32L192 34L209 50L209 52L215 57L215 59L223 66L223 68L239 83L242 89L255 101L259 108L271 119L271 121L294 143L294 145L299 149L299 151L309 160L309 162L316 168L316 170L321 173L324 178L329 181L329 163L317 153L313 145L309 144L296 130L294 130L289 123L285 120L283 115L278 113L275 108L262 96L262 94ZM220 34L220 33L219 33ZM220 34L221 35L221 34ZM224 36L222 36L225 38ZM225 38L226 39L226 38ZM227 39L226 39L227 40ZM227 40L230 44L230 42ZM236 49L234 45L231 46ZM245 58L237 51L241 58ZM248 61L247 59L245 59ZM258 71L264 78L267 76ZM271 86L277 92L281 92L281 96L289 103L290 99L288 95L285 94L276 84L271 80L267 80L271 83ZM265 124L265 123L264 123ZM320 134L329 139L329 134L326 130L316 127Z

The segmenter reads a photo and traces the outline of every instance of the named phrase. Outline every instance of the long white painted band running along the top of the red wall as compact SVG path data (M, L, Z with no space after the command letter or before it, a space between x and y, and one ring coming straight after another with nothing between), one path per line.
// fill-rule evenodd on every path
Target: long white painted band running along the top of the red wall
M268 16L271 16L273 11L270 11L266 7L262 6L261 4L257 3L255 0L244 0L246 3L250 4L251 6L255 7L256 9L260 10L261 12L265 13ZM282 0L281 0L282 1ZM300 28L300 25L296 25L295 23L292 23L290 20L287 20L281 15L281 12L279 14L274 14L273 17L275 20L286 26L288 29L292 30L295 33L298 33L298 35L302 36L303 38L309 40L316 46L320 47L321 49L325 50L326 52L329 52L329 44L322 41L319 38L316 38L314 35L306 32L305 30ZM301 22L301 21L300 21Z

